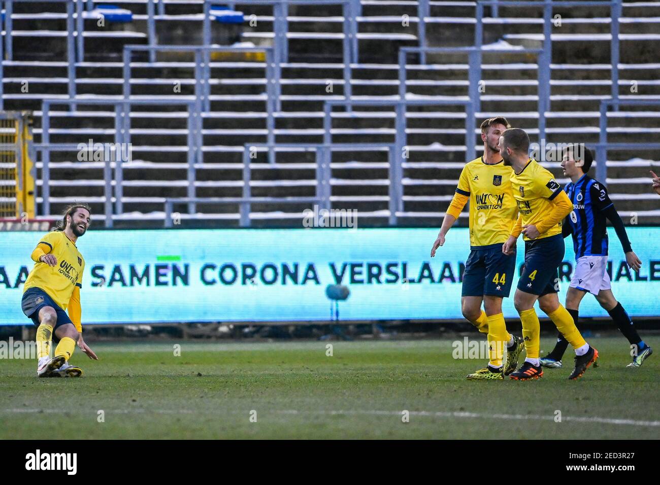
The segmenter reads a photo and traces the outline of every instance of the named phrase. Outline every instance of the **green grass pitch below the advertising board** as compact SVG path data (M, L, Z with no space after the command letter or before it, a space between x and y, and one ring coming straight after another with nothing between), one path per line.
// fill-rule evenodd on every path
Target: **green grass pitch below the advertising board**
M332 342L333 356L327 342L91 342L101 360L77 350L81 379L0 361L0 438L660 437L660 354L627 369L620 335L589 342L600 366L582 379L567 380L569 349L563 369L527 382L467 381L485 361L454 360L451 340Z

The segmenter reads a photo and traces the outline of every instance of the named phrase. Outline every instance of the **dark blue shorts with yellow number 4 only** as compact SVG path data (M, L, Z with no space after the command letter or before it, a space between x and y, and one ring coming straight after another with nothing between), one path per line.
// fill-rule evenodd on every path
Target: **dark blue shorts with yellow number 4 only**
M563 260L564 238L561 234L525 241L525 264L518 280L518 289L539 296L558 293L558 268Z

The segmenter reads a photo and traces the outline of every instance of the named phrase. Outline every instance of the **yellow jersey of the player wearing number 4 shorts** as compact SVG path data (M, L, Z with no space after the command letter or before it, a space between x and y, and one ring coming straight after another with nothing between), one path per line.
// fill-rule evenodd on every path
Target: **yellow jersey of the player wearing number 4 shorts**
M523 226L530 224L538 226L540 222L543 222L554 208L552 199L562 191L562 187L556 182L552 173L533 158L527 161L527 165L519 174L511 171L511 185ZM536 240L561 234L561 232L562 222L560 221ZM523 236L523 239L529 241L527 236Z

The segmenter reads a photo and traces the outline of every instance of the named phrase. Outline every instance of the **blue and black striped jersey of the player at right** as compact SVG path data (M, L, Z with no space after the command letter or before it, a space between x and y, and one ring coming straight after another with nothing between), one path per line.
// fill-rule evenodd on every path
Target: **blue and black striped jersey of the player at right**
M573 212L566 218L573 236L576 259L582 256L607 256L607 215L612 207L605 185L583 175L576 183L564 187L573 203Z

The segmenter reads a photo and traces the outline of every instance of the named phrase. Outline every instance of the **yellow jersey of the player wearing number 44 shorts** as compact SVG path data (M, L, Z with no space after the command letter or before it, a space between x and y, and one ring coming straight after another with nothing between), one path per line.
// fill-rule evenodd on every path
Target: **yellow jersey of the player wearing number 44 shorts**
M510 167L504 162L488 165L483 156L463 167L447 214L458 218L470 201L471 247L502 244L508 240L517 218Z

